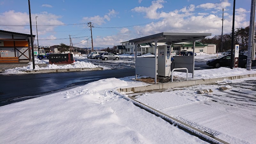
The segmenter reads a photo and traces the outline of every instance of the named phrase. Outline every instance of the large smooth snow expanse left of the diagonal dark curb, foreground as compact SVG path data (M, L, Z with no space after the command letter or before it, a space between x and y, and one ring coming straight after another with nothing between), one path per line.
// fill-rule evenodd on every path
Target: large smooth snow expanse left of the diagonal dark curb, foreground
M109 78L0 107L0 141L206 143L109 91L136 84Z

